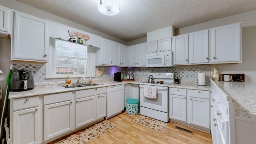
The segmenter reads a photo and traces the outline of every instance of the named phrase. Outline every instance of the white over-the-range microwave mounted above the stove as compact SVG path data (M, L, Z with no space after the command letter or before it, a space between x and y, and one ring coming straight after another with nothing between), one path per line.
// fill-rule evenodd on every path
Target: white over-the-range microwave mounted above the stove
M172 51L146 54L146 67L171 67Z

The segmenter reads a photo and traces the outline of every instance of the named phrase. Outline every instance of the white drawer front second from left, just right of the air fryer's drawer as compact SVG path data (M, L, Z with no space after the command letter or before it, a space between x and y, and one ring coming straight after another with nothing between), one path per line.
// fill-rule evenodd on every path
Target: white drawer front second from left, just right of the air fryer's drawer
M72 99L74 99L72 92L49 94L44 96L44 105L53 104L57 102L64 102Z

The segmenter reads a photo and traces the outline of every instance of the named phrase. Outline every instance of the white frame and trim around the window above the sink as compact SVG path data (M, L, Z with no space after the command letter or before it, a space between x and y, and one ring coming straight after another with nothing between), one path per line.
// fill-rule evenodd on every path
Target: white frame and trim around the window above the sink
M67 76L70 76L72 78L80 78L82 76L85 77L95 77L95 52L92 47L87 47L87 54L88 54L88 74L56 74L56 67L55 67L55 39L56 38L50 38L50 44L49 44L49 62L46 63L46 77L45 79L52 79L52 78L66 78ZM57 39L61 40L61 39ZM63 40L65 41L65 40ZM66 41L69 42L69 41ZM72 43L77 44L77 43ZM79 44L81 45L81 44Z

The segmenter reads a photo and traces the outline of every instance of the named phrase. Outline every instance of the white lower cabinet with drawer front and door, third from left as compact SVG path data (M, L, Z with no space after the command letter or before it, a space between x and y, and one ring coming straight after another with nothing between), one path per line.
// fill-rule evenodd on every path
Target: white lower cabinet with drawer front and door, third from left
M76 128L96 120L95 89L79 90L76 97Z

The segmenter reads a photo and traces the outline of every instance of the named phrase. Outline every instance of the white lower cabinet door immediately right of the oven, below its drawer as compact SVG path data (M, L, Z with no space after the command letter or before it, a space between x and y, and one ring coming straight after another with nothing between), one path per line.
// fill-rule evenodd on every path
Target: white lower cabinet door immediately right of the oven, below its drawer
M187 100L186 96L177 96L170 94L169 112L170 118L187 121Z

